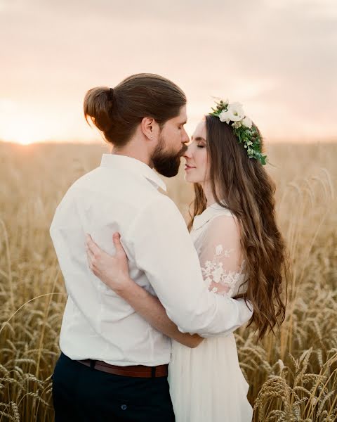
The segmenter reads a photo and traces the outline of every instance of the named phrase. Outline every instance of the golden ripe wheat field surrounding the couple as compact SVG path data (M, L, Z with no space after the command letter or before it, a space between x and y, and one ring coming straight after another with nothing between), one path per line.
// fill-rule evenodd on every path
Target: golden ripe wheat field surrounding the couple
M67 188L105 151L0 143L0 422L53 421L66 295L48 228ZM293 276L281 331L263 343L251 329L236 334L254 421L337 421L337 145L277 144L268 155ZM182 174L166 182L186 214L191 186Z

